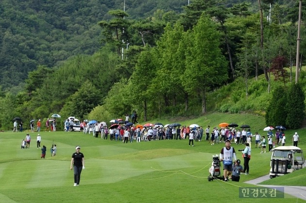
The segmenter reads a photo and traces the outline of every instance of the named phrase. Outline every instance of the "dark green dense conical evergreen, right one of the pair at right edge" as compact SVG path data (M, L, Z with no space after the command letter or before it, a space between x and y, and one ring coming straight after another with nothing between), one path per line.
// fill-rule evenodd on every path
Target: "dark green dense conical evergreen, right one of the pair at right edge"
M293 83L288 92L287 98L287 119L286 127L291 129L300 128L305 119L305 92L300 83Z

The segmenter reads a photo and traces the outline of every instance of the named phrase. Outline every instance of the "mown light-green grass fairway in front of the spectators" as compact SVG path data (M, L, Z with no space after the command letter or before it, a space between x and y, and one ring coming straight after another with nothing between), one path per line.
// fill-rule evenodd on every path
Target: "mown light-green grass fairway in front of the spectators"
M25 135L0 133L0 203L304 202L290 195L277 200L239 198L239 187L254 187L244 181L270 170L271 154L260 154L258 148L252 147L250 175L241 174L240 182L208 182L212 155L219 155L224 143L212 146L201 141L189 147L187 140L123 143L80 132L40 132L41 146L47 146L46 159L41 159L37 133L30 133L30 149L20 149ZM57 145L54 157L50 153L52 141ZM79 187L73 187L70 170L76 145L85 155ZM242 160L240 152L238 158Z

